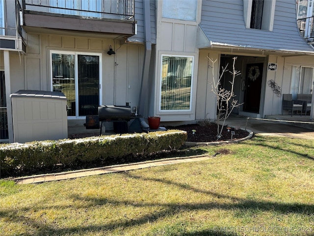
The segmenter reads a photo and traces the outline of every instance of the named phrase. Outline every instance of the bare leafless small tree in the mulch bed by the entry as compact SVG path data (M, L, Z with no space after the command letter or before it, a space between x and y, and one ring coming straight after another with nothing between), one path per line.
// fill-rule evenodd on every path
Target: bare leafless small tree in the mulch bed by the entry
M227 69L228 64L225 67L221 67L222 72L219 75L219 78L217 82L215 81L214 76L214 63L217 61L210 59L207 57L209 62L212 64L212 78L213 82L211 83L211 90L216 95L216 102L217 102L217 140L221 138L222 129L225 125L226 119L230 116L232 111L235 107L239 107L243 103L239 104L237 100L235 100L235 93L234 93L234 84L235 84L235 77L240 75L240 71L235 70L235 60L236 57L233 58L233 70L229 71ZM225 88L222 88L221 85L221 78L223 77L224 73L230 72L232 75L232 81L229 81L231 83L231 91L227 90ZM222 126L219 125L219 121L223 120Z

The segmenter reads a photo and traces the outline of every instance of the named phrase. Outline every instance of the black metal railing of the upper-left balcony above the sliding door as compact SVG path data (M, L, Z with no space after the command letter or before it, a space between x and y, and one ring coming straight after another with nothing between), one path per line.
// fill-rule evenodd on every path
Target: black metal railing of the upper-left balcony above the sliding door
M22 0L22 6L23 10L134 21L134 0Z

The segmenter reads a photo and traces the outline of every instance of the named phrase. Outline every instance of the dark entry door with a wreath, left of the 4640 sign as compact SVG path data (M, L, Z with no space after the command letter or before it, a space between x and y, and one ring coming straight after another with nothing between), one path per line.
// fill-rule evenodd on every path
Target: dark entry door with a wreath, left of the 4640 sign
M263 65L263 63L255 63L246 66L243 104L243 111L245 112L260 112Z

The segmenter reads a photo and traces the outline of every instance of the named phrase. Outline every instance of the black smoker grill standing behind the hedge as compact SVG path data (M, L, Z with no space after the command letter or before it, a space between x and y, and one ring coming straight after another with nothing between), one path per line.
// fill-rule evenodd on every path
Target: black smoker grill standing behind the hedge
M131 114L130 106L103 105L98 107L98 116L86 116L85 127L86 129L99 129L99 122L101 122L100 125L101 135L103 123L114 122L113 123L114 128L118 129L117 132L115 130L116 133L127 133L129 131L128 121L134 118L137 118L137 116Z

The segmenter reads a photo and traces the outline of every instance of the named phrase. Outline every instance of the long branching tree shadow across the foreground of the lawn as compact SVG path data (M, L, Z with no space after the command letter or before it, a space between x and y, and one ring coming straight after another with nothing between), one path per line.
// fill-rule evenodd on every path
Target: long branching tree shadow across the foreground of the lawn
M183 211L193 211L193 210L210 210L210 209L222 209L222 210L243 210L248 211L250 209L259 210L259 211L276 211L280 214L303 214L303 215L313 215L314 214L314 205L310 204L297 204L297 203L276 203L270 201L254 201L254 200L246 200L245 198L238 198L232 197L224 194L219 194L212 191L201 190L195 187L190 187L185 184L181 184L178 182L160 179L160 178L147 178L141 176L131 175L130 173L122 173L126 177L140 179L143 181L155 181L165 185L171 185L176 188L181 188L183 190L189 190L195 193L202 193L207 194L210 196L217 197L219 199L226 199L229 203L219 204L215 202L208 202L208 203L178 203L178 204L163 204L163 203L141 203L138 201L126 200L126 201L116 201L114 199L107 199L107 198L95 198L95 197L82 197L81 195L72 194L69 195L70 202L81 202L80 205L76 205L75 209L82 208L84 210L88 210L86 208L89 207L97 207L97 206L104 206L108 204L110 207L119 207L119 206L130 206L130 207L161 207L162 209L158 211L154 211L145 215L140 215L136 218L128 218L125 216L118 221L112 220L111 222L104 223L104 224L93 224L90 226L76 226L76 227L57 227L54 224L46 223L44 219L37 218L37 219L30 219L27 216L17 216L17 212L21 209L12 209L3 211L0 210L0 217L1 218L8 218L11 222L17 222L20 224L28 224L32 228L33 236L42 236L42 235L65 235L65 234L84 234L84 233L91 233L94 232L95 234L100 232L106 232L110 230L115 230L119 228L128 228L133 226L144 225L147 222L155 222L157 220L163 220L166 217L174 216L182 214ZM230 203L231 202L231 203ZM59 207L68 207L69 211L72 210L73 206L58 206L53 204L53 206L42 206L41 203L37 203L37 205L30 206L23 208L24 211L34 210L40 211L48 210L49 208L55 209ZM214 222L212 222L214 224ZM172 226L169 226L172 227ZM228 229L228 226L226 226ZM161 229L162 230L162 229ZM174 230L176 228L174 227ZM223 230L219 230L219 226L213 226L212 229L205 229L202 231L196 231L193 233L185 233L184 228L178 229L179 236L235 236L234 232L225 232ZM217 231L217 232L216 232ZM147 232L149 233L149 232ZM239 232L237 232L239 233Z

